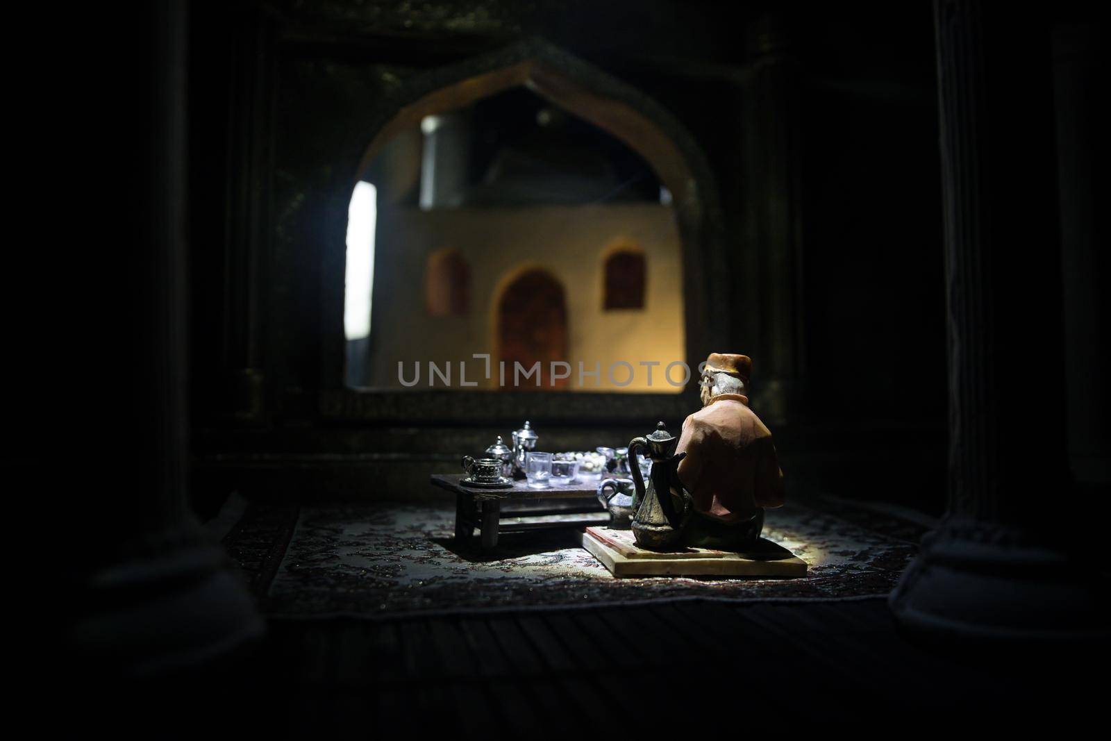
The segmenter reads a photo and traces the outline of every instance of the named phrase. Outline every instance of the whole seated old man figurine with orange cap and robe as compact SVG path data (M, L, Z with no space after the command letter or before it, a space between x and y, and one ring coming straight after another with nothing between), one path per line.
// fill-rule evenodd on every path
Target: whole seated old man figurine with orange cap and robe
M749 409L747 356L711 353L702 373L702 409L683 422L679 479L693 498L683 542L744 551L763 530L764 508L783 504L783 472L771 431Z

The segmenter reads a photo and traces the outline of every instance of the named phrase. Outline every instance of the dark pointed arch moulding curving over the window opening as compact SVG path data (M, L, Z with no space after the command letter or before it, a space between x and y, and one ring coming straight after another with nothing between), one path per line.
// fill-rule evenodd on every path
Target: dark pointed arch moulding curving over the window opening
M380 118L367 127L376 133L353 172L352 181L363 177L394 137L419 127L426 117L460 110L513 88L527 88L619 139L650 164L659 182L671 193L674 223L682 247L681 267L677 272L681 273L684 297L681 326L684 329L685 357L680 359L695 367L710 350L718 349L720 338L727 330L722 322L713 320L710 312L711 306L721 304L721 297L725 293L724 258L719 249L721 219L717 190L705 157L690 133L668 110L629 84L537 40L416 76L402 81L392 101L383 101ZM338 291L337 296L342 297L342 292ZM376 292L374 300L378 298ZM324 309L328 310L328 307ZM333 313L342 316L339 302ZM377 316L384 321L380 312ZM341 332L324 338L326 346L336 343L336 351L328 352L330 358L343 357L338 347L341 341ZM342 378L341 370L337 368L336 378ZM500 394L500 398L509 395ZM367 418L378 414L372 400L360 401L349 397L343 397L331 408L342 409L344 415ZM697 388L688 389L682 398L685 400L683 403L689 403L697 398ZM679 401L679 397L670 394L667 403ZM597 409L599 413L609 413L602 408ZM507 407L506 413L512 415L516 409ZM568 413L577 412L568 408Z

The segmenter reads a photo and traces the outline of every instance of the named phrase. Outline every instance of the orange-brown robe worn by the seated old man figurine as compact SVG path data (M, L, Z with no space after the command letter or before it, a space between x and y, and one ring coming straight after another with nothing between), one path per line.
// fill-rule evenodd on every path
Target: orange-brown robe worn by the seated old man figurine
M694 509L725 522L783 504L783 472L771 431L739 393L722 393L683 422L679 479Z

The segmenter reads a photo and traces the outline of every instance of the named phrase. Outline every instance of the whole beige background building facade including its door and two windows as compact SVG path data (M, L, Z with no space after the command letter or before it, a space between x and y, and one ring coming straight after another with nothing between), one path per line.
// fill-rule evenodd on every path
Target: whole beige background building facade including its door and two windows
M612 304L611 256L628 254L612 250L629 244L637 246L635 262L643 276L639 282L650 291L643 293L640 308L629 306L628 291L621 294L623 306ZM451 362L456 369L463 361L468 369L476 369L473 374L469 370L468 381L477 380L477 388L497 388L500 360L507 361L508 377L513 361L531 366L527 361L540 360L542 388L679 391L663 379L662 369L684 358L681 256L672 211L659 203L382 210L368 385L404 388L398 377L399 361L408 366ZM519 303L529 296L519 290L518 282L536 271L560 290L544 290L540 303ZM469 286L464 286L468 277ZM560 293L562 306L553 298ZM468 294L469 302L463 298ZM524 319L524 327L514 323L514 314ZM552 340L546 346L548 352L530 356L511 349L520 347L514 338L529 326L560 334L554 329L560 323L565 339ZM494 370L489 380L479 372L482 361L472 358L477 352L491 354ZM569 383L557 380L556 387L549 385L550 360L574 366ZM591 375L578 385L579 360L588 373L600 363L597 387ZM621 385L628 377L623 367L615 368L610 378L613 363L635 366L641 360L660 363L651 387L639 367L628 385ZM414 388L428 388L426 370ZM407 380L411 377L407 370ZM436 383L443 385L438 379ZM530 378L519 388L536 388L534 383ZM512 381L508 379L507 384ZM461 388L458 379L451 387Z

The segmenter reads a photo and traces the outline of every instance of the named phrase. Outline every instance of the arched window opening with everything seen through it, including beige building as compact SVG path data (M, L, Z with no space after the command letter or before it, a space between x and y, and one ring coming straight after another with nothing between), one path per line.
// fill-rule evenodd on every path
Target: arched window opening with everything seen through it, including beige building
M426 116L362 178L373 298L348 385L681 391L663 373L685 360L680 230L624 142L522 88Z

